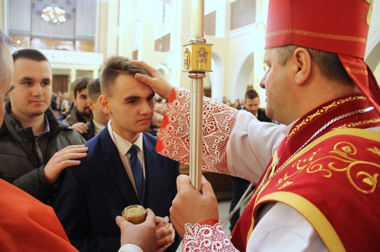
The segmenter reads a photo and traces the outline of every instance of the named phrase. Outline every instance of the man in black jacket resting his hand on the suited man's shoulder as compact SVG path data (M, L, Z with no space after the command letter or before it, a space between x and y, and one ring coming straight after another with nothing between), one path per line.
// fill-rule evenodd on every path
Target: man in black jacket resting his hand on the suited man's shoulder
M88 148L49 107L52 71L47 58L35 49L12 56L14 89L0 128L0 178L48 203L61 171L79 165L77 159L86 157Z

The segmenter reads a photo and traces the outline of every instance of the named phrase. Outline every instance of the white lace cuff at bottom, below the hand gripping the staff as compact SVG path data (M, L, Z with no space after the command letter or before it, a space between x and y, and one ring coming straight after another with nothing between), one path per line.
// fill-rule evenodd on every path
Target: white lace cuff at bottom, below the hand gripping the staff
M213 226L185 224L182 251L238 252L219 223Z

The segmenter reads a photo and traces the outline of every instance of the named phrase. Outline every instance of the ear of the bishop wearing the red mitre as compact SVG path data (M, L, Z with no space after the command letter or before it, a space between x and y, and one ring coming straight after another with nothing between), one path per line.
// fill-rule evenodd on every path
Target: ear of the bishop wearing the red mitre
M293 53L294 63L298 68L295 73L295 83L302 85L310 77L312 71L312 59L307 49L298 47Z

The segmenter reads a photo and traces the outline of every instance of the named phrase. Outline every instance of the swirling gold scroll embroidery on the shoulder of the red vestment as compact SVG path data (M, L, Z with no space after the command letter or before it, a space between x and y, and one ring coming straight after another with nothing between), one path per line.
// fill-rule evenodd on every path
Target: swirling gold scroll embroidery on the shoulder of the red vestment
M305 171L308 174L321 173L324 178L331 178L334 173L344 172L348 182L359 192L364 194L373 193L379 186L378 175L380 172L380 164L361 160L362 155L358 154L357 147L346 141L338 142L330 150L330 155L322 155L321 158L315 158L315 155L320 152L318 149L309 155L309 158L299 159L293 163L292 169L288 169L285 175L280 178L278 189L289 186L294 181L289 181L289 178ZM372 147L367 150L375 155L380 156L380 148ZM374 172L375 168L377 172ZM292 174L289 175L289 173ZM291 182L291 183L289 183Z

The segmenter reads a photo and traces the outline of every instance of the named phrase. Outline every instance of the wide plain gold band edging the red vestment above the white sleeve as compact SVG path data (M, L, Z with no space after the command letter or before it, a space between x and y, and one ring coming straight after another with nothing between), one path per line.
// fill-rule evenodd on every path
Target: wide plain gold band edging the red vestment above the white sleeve
M306 198L292 192L280 191L263 196L257 204L265 200L278 201L298 211L311 223L329 251L346 251L343 242L341 242L331 223L322 212Z

